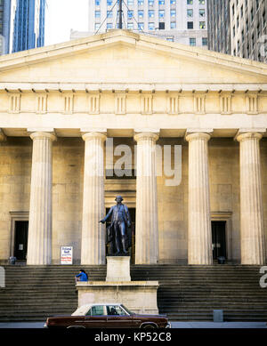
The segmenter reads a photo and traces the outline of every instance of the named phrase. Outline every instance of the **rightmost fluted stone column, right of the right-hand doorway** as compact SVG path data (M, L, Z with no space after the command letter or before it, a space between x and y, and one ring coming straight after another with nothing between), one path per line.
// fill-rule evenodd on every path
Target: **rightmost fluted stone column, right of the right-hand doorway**
M261 133L240 133L241 264L263 265L263 198L259 141Z

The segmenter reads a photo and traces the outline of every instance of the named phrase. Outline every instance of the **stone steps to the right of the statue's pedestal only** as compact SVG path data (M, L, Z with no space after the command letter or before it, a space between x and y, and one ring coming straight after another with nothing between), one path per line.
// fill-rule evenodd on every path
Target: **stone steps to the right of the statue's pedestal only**
M158 279L158 310L175 321L211 321L223 310L224 321L267 321L267 288L261 267L135 266L132 280Z

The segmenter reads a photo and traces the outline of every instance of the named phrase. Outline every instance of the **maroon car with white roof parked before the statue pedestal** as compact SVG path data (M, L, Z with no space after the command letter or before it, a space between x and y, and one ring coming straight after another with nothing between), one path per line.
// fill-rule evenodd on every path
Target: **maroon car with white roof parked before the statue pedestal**
M71 316L47 318L47 328L171 328L166 316L138 315L119 303L83 305Z

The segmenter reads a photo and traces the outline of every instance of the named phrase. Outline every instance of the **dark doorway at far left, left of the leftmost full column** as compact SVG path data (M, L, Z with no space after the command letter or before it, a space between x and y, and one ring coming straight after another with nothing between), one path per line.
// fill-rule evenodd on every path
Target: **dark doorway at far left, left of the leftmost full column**
M15 221L14 256L18 261L26 261L28 245L28 221Z

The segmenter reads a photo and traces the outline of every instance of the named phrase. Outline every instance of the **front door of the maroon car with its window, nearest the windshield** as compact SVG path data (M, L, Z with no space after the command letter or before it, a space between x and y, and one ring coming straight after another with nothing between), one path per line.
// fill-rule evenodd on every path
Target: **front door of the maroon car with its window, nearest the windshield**
M128 315L125 310L119 305L107 305L107 327L108 328L133 328L134 322L131 315Z

